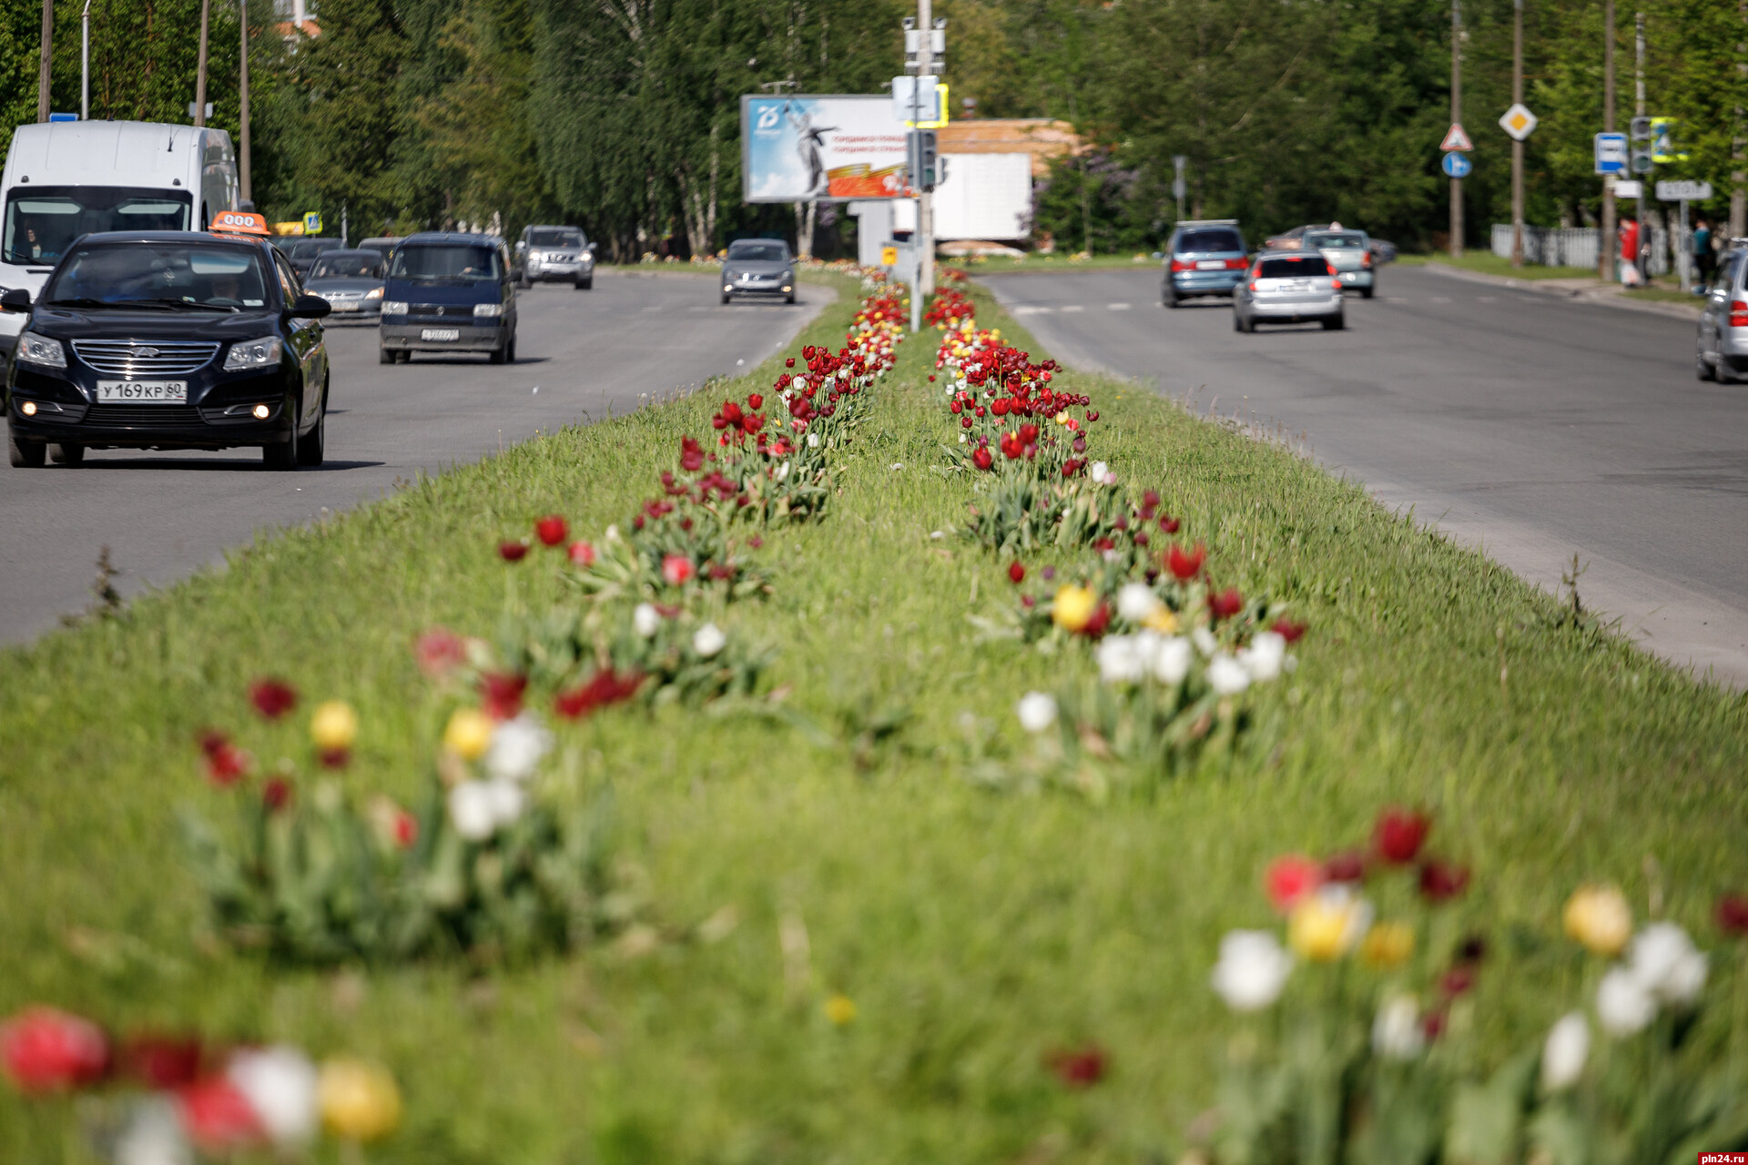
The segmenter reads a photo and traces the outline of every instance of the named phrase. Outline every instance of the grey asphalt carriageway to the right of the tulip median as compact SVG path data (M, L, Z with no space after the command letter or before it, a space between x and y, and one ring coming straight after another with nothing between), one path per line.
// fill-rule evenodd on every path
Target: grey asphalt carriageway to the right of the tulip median
M1304 435L1388 507L1585 604L1652 650L1748 683L1748 386L1694 379L1694 323L1386 267L1348 330L1232 330L1143 271L989 276L1070 367L1138 377Z

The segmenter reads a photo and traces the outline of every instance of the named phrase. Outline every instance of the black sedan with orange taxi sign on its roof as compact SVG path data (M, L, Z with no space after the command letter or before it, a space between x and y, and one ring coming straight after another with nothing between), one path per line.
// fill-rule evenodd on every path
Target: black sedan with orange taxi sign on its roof
M12 465L86 449L260 445L269 470L322 465L323 299L269 243L191 232L87 234L28 311L5 383Z

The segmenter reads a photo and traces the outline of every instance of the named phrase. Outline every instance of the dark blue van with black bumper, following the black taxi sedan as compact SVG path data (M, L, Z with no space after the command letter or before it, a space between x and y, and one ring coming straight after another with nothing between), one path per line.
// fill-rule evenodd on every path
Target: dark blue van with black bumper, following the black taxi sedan
M406 363L416 351L516 362L516 283L502 239L434 231L395 248L378 355L383 363Z

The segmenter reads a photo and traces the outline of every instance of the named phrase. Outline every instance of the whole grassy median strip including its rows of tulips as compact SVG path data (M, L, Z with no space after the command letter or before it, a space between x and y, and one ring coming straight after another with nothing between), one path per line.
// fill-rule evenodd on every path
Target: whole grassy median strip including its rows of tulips
M121 1160L136 1109L203 1144L178 1088L246 1099L271 1050L381 1065L399 1125L299 1102L329 1132L276 1146L250 1100L267 1148L210 1158L1741 1148L1738 693L1047 367L975 286L900 344L902 297L829 278L708 396L5 653L0 1017L119 1034L65 1090L0 1057L0 1160ZM1009 480L1049 500L988 517ZM1379 805L1414 809L1355 847ZM199 1069L140 1083L119 1050L164 1032Z

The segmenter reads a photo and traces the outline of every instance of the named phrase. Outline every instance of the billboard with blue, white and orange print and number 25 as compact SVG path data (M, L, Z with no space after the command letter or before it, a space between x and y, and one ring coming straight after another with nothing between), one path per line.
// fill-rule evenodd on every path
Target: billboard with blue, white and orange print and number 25
M743 96L741 197L748 203L916 197L905 183L905 134L886 94Z

